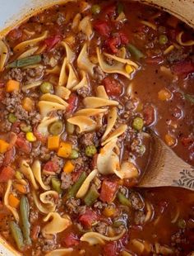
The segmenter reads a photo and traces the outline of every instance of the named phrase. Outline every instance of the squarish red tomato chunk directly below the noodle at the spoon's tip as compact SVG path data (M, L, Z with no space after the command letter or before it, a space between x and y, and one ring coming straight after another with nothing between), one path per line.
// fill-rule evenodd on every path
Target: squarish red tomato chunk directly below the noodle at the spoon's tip
M118 183L109 180L104 180L101 187L99 199L104 202L113 201L116 192L118 191Z

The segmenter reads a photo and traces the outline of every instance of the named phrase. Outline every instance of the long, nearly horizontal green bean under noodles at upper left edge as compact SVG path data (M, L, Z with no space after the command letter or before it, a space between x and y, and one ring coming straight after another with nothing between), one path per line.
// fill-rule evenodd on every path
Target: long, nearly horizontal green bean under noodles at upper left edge
M42 60L41 55L33 55L30 57L26 57L23 59L16 59L15 61L13 61L11 64L7 65L7 69L11 69L11 68L23 68L32 64L38 64L40 63Z

